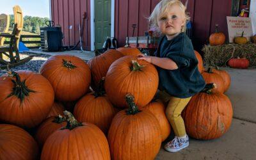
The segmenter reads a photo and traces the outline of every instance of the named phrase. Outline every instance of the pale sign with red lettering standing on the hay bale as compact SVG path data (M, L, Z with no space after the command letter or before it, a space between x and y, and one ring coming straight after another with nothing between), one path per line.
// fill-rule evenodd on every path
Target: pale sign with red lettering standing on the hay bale
M227 23L230 43L233 43L236 36L241 36L243 31L244 37L250 41L250 37L253 36L252 20L250 17L227 17Z

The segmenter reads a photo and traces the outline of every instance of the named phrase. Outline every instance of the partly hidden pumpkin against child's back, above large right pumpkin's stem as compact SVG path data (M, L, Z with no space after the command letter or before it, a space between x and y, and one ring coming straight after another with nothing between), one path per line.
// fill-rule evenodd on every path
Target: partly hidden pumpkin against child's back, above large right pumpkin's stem
M212 90L213 92L224 93L224 90L225 90L224 80L219 74L217 74L216 72L212 72L212 67L209 67L207 70L205 70L202 73L202 76L204 77L205 83L216 84L216 88Z

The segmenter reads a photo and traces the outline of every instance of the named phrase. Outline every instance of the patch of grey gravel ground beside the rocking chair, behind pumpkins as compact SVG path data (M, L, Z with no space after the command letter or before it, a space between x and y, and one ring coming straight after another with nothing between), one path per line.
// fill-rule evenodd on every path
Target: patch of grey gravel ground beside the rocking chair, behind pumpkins
M20 59L26 58L28 56L33 55L33 59L24 63L23 65L19 65L17 67L11 68L13 71L17 70L31 70L33 72L39 72L41 65L50 57L49 55L45 54L20 54ZM4 74L4 70L0 70L0 76Z

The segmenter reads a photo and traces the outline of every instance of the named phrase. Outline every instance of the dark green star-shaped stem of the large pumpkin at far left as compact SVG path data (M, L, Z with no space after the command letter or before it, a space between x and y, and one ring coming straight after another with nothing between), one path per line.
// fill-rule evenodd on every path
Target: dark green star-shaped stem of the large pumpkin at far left
M8 76L15 77L16 81L12 79L14 86L12 88L12 93L10 93L7 98L15 95L20 99L20 102L23 102L25 97L28 96L30 92L35 93L35 91L29 90L29 88L26 86L26 79L24 81L20 81L20 76L17 74L17 72L8 70Z

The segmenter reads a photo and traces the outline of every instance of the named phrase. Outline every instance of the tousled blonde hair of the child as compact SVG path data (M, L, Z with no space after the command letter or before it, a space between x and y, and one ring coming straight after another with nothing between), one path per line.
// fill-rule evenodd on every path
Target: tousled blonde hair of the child
M186 6L184 6L179 0L162 0L156 5L150 17L148 18L150 28L158 28L157 19L160 15L163 15L163 13L167 12L168 7L172 6L173 4L178 4L180 10L184 12L186 22L190 19L188 13L186 13ZM186 22L184 26L182 26L182 32L186 31Z

